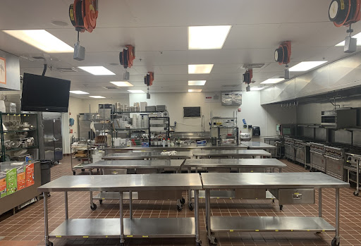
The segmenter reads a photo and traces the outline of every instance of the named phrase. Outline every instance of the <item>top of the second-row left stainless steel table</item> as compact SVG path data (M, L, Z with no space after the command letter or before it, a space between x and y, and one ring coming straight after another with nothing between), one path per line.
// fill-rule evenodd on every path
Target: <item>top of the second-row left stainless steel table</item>
M87 168L181 168L185 160L109 160L87 164Z

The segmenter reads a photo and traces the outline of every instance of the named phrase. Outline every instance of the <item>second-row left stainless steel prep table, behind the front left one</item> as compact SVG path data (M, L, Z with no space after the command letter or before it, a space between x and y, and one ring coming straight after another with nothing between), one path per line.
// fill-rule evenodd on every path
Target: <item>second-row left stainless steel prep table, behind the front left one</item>
M164 169L173 170L176 173L181 171L181 168L184 164L185 160L109 160L109 161L97 161L92 164L88 164L87 167L91 169L130 169L131 171L135 171L135 169L142 170L154 170L157 173L163 171ZM104 171L102 172L104 173ZM92 174L92 173L90 173ZM149 195L149 192L123 192L123 199L178 199L177 201L177 209L178 211L182 210L183 204L185 203L185 199L182 197L182 190L178 190L176 194L174 192L152 192L152 195ZM168 195L168 196L167 196ZM102 191L99 194L93 196L92 192L90 192L90 208L92 210L97 209L97 205L94 204L94 200L99 200L99 203L102 204L103 200L114 200L119 199L118 192L109 192Z

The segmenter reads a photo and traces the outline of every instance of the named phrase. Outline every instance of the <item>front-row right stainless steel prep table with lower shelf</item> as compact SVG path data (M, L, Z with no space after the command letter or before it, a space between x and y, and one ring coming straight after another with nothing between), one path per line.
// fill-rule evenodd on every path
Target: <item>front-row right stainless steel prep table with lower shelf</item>
M206 223L210 245L216 245L211 233L236 231L336 231L332 245L340 242L339 190L349 187L348 183L324 173L202 173L203 188L206 190ZM274 189L319 189L318 217L258 216L219 217L210 216L210 190L230 188L274 188ZM322 219L322 188L336 189L336 228ZM295 193L298 194L298 193Z

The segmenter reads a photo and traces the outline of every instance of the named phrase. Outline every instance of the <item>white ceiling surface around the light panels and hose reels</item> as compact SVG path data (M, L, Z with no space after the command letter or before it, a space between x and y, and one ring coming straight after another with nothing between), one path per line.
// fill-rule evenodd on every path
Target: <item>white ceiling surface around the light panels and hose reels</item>
M102 0L99 1L97 27L80 34L86 49L85 61L73 54L46 54L53 68L68 66L105 66L116 75L95 76L47 71L48 76L71 80L71 90L92 95L116 97L129 87L106 90L109 81L121 80L123 68L118 53L126 44L135 46L134 65L128 69L131 90L147 90L143 77L153 71L150 92L187 92L238 90L245 69L243 63L266 63L253 73L254 85L267 78L282 76L284 66L274 62L274 49L285 40L292 42L290 66L300 61L334 61L345 54L334 47L346 35L346 27L334 27L328 18L331 0ZM2 0L0 30L45 29L73 46L75 28L68 18L68 0ZM51 20L69 25L58 27ZM221 50L188 50L188 26L232 25ZM353 26L355 33L361 25ZM44 56L42 51L0 32L0 49L19 56ZM142 59L140 61L140 59ZM41 74L44 61L20 59L21 73ZM188 64L214 63L209 75L188 75ZM298 75L299 73L292 73ZM188 80L207 80L204 86L188 87ZM238 87L231 87L235 85ZM73 96L73 95L72 95ZM89 98L87 95L77 96Z

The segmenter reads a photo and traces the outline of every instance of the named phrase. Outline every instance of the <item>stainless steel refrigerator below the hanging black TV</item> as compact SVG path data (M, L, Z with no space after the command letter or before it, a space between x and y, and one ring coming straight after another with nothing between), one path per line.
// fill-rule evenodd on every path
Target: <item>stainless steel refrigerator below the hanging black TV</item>
M61 113L38 114L40 159L60 161L63 159L63 136L61 135Z

